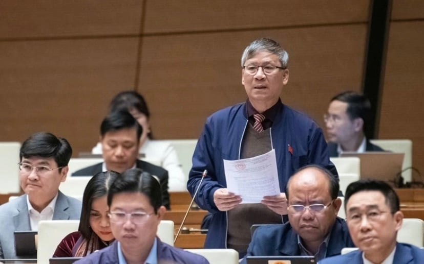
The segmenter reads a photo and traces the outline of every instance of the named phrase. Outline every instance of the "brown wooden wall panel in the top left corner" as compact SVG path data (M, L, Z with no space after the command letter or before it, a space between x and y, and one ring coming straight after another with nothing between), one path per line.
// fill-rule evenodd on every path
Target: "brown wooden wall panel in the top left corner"
M141 0L2 0L0 39L139 34Z

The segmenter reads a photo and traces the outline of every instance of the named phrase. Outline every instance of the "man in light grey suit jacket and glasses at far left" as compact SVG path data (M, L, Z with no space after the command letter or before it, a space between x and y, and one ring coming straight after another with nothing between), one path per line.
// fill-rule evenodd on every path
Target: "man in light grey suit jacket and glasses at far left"
M16 258L14 231L37 231L40 220L76 220L81 201L63 195L72 149L47 132L30 136L19 152L19 182L25 194L0 206L0 261Z

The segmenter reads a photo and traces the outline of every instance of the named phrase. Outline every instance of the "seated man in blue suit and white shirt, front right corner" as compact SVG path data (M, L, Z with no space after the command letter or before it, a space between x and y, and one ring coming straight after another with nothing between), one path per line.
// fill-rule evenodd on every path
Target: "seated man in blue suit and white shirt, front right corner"
M359 250L320 263L414 264L424 261L424 250L396 242L404 214L392 187L383 181L359 180L346 189L346 219Z

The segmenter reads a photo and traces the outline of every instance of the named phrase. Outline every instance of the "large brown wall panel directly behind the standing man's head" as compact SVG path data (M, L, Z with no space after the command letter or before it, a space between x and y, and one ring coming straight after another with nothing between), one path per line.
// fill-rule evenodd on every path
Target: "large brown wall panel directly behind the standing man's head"
M138 90L159 138L198 137L210 113L246 100L241 54L253 39L270 36L290 57L283 101L323 125L329 99L361 87L366 30L364 23L144 37Z

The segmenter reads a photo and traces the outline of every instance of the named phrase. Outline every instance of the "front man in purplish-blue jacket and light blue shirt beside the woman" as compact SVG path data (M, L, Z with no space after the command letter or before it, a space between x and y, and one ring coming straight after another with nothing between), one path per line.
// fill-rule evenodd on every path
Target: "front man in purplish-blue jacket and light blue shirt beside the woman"
M116 178L108 191L116 242L76 263L209 263L200 255L162 243L156 236L165 213L161 193L157 179L139 169Z

